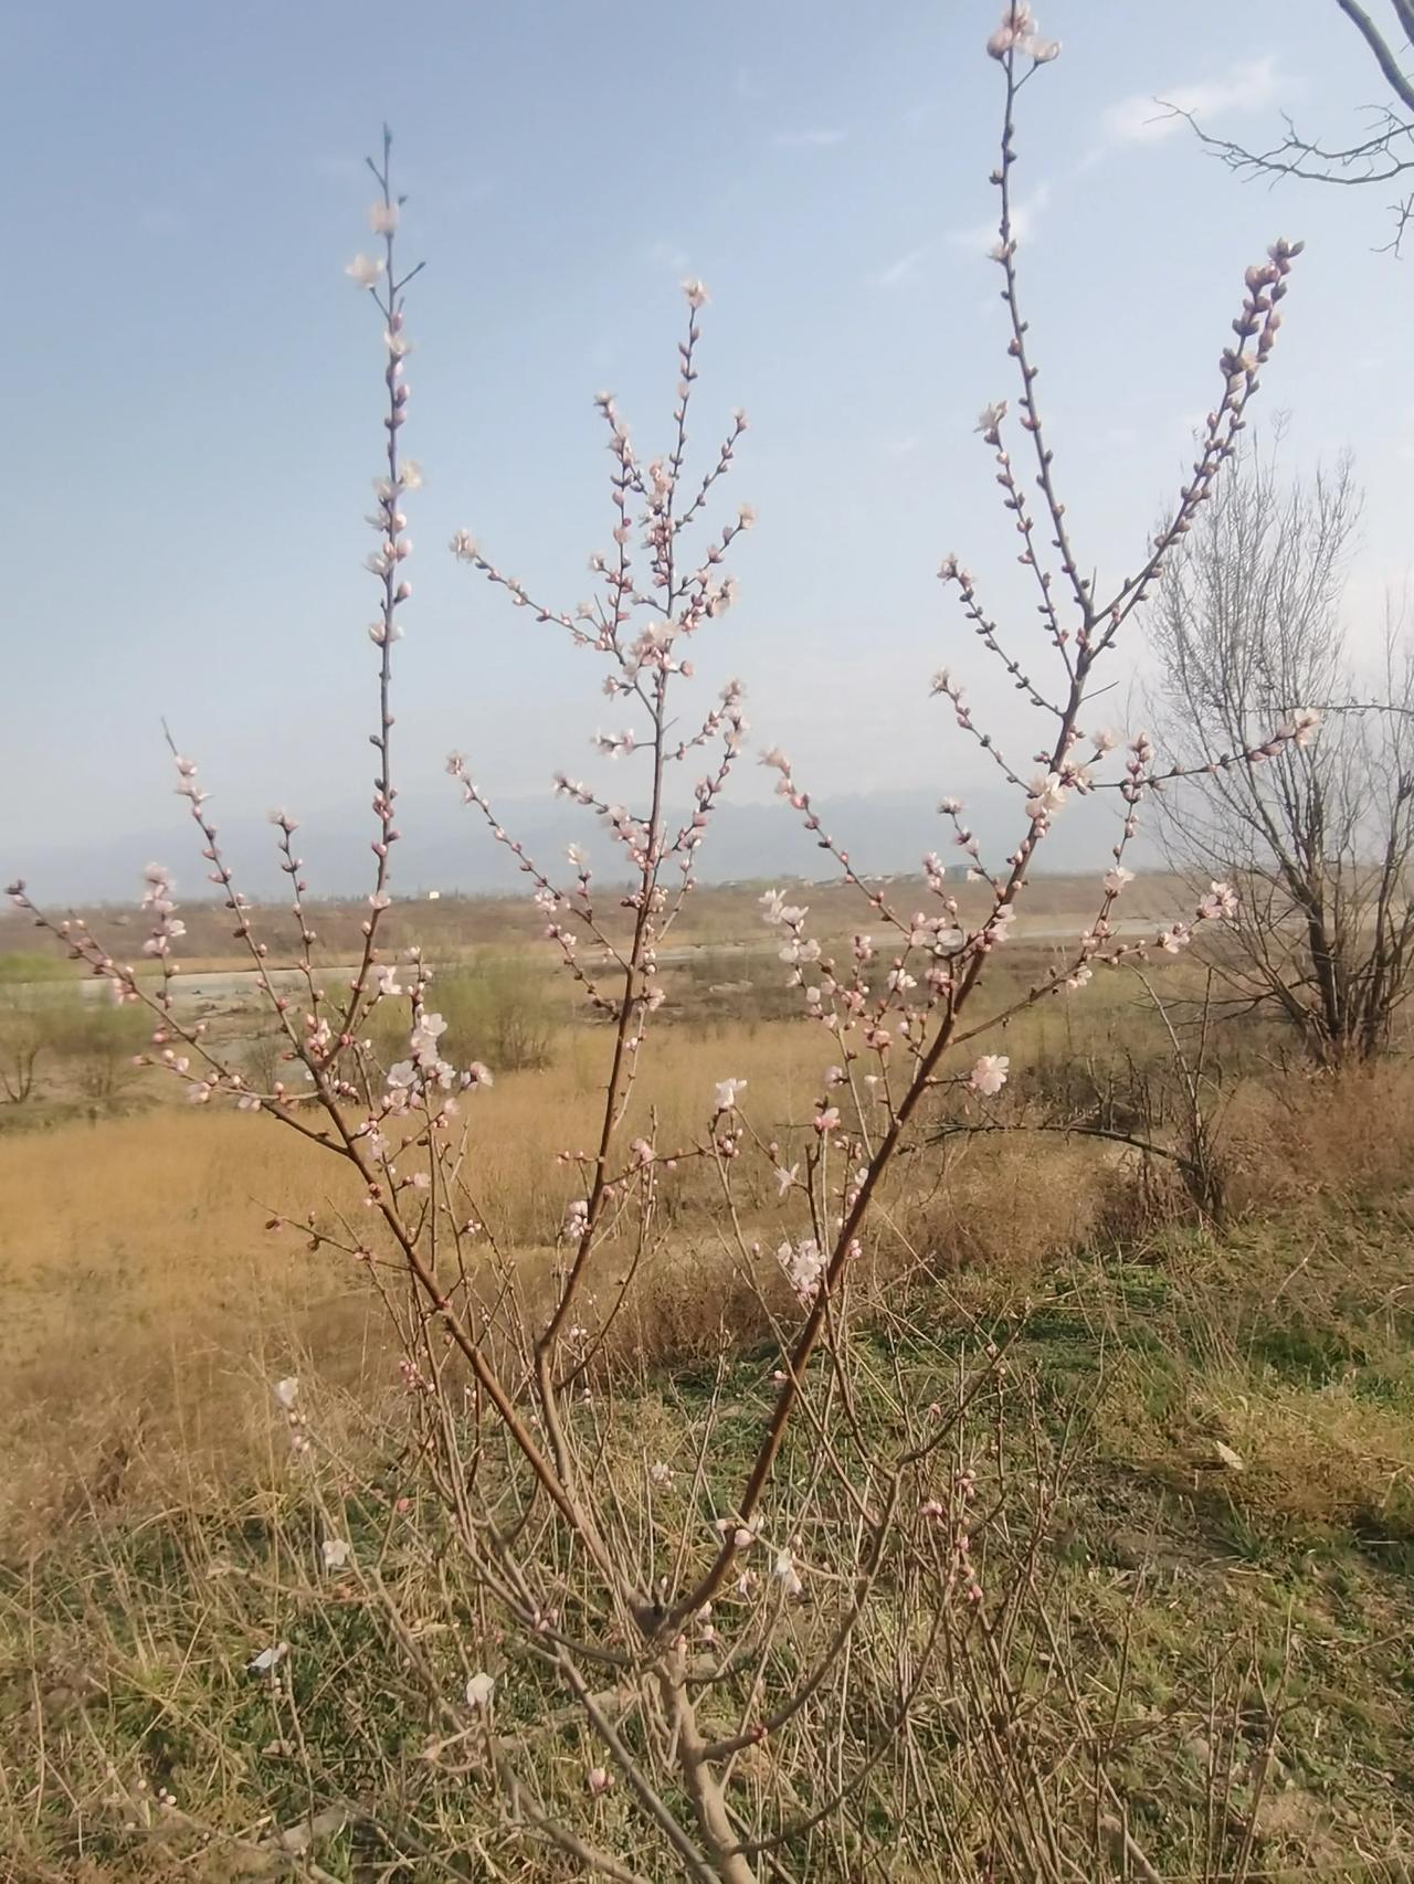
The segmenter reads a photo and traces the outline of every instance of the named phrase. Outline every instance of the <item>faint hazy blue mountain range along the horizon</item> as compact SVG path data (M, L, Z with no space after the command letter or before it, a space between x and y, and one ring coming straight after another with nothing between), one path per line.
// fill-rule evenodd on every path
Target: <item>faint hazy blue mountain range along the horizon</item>
M449 793L413 797L400 803L403 838L394 853L394 889L400 895L426 895L430 889L507 891L524 882L509 852L496 844L473 806L462 806ZM1001 865L1018 836L1016 799L1005 791L975 793L967 818L977 831L982 855ZM583 844L596 869L615 880L622 876L622 853L579 806L554 799L522 799L498 806L511 831L552 876L564 874L566 844ZM822 799L822 825L850 853L862 874L916 872L928 852L946 865L960 865L962 852L952 840L952 823L939 816L931 793L897 791ZM1120 827L1116 793L1067 806L1037 853L1043 870L1093 870L1109 863L1109 848ZM305 859L305 878L319 897L358 895L368 884L371 829L358 829L347 814L315 814L302 821L296 848ZM51 902L128 902L140 891L141 869L149 859L166 863L190 899L198 893L206 865L190 846L192 829L173 816L160 831L134 831L128 836L55 846L43 857L23 863L34 893ZM262 901L279 889L273 831L264 820L228 816L221 821L221 842L247 895ZM1137 852L1137 855L1133 853ZM1131 863L1152 867L1152 846L1131 848ZM11 859L6 859L6 869ZM779 799L767 803L724 803L711 820L701 848L699 878L733 882L741 878L824 880L839 874L837 863L818 848L801 818Z

